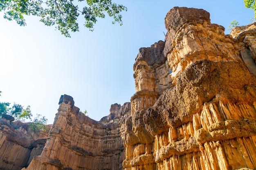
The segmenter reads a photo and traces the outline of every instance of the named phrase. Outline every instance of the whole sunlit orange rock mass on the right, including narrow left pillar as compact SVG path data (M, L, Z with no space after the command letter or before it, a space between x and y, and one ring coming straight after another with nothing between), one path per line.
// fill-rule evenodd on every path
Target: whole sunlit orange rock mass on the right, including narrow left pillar
M256 168L255 24L230 36L209 16L174 7L165 44L139 50L126 170Z

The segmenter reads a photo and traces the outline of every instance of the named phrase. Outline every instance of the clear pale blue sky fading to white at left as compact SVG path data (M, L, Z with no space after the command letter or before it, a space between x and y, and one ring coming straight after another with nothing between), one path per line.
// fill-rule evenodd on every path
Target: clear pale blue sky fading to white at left
M123 26L112 18L98 20L94 31L83 27L66 38L37 17L27 26L3 19L0 13L0 102L30 105L34 115L52 124L62 94L74 98L75 106L100 120L111 104L130 102L135 93L133 64L141 47L164 40L164 17L173 7L208 11L211 23L228 26L237 20L247 25L254 12L243 0L114 0L128 8ZM163 33L164 32L164 33Z

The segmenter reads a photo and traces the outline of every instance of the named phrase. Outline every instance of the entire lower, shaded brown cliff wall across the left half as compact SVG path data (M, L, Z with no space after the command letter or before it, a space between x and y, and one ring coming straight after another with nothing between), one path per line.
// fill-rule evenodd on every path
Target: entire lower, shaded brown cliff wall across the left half
M27 123L9 115L0 120L0 170L123 170L125 122L130 102L114 104L110 114L95 121L60 98L48 131L32 132Z

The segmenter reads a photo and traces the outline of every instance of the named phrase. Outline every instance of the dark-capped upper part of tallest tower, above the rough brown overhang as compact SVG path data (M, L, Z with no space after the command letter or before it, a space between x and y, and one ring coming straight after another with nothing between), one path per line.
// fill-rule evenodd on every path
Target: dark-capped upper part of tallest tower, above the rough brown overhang
M174 7L165 18L167 29L164 55L171 67L173 84L193 62L240 61L234 39L225 35L225 28L211 24L210 14L203 9Z

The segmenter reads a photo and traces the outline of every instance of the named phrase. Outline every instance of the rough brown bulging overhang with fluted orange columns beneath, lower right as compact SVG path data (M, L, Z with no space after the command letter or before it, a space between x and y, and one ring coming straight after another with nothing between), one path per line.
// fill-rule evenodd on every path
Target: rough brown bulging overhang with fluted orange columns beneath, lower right
M158 169L255 169L255 85L238 62L190 65L144 114Z

